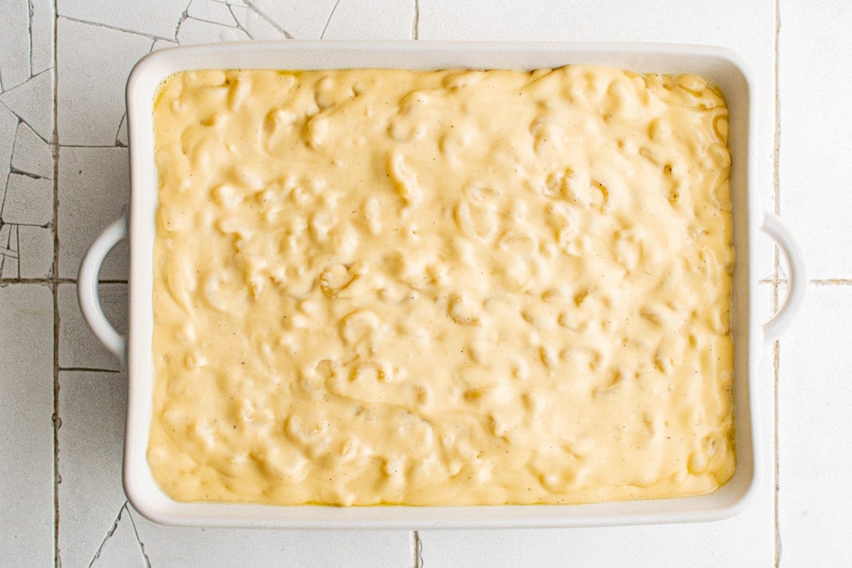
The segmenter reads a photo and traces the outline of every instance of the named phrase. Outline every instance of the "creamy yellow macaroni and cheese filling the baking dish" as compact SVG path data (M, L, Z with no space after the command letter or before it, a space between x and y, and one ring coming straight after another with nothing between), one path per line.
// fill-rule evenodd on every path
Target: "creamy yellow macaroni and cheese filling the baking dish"
M576 503L733 475L705 79L182 72L154 118L147 458L171 497Z

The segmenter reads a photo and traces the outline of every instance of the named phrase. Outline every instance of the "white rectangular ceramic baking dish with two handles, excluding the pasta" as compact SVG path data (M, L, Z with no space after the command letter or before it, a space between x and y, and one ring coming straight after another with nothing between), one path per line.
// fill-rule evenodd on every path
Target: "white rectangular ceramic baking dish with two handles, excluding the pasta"
M584 63L636 72L704 75L728 98L731 195L736 262L731 329L734 337L734 413L737 470L718 491L705 496L588 505L487 507L279 507L175 502L161 491L147 465L152 417L152 250L157 174L153 158L153 101L158 84L173 72L208 68L327 69L341 67L446 67L534 69ZM149 519L176 525L275 528L453 528L632 525L722 519L751 494L759 468L767 467L754 436L758 362L790 323L803 301L803 259L779 219L763 211L751 160L755 156L755 98L751 73L724 49L589 43L231 43L164 49L147 55L127 86L130 124L130 216L115 221L83 260L78 289L83 314L95 335L126 363L129 384L124 445L124 489ZM128 220L130 231L128 232ZM769 234L790 265L789 294L768 324L757 318L757 236ZM127 339L107 322L97 297L101 262L119 240L130 238L130 315Z

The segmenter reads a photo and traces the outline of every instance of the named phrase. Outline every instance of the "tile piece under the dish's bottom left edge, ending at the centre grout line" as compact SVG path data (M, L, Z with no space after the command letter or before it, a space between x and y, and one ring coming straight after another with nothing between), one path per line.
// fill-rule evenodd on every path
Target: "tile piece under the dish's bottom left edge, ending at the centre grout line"
M283 558L302 568L412 565L408 531L193 529L157 525L128 508L152 566L260 568Z

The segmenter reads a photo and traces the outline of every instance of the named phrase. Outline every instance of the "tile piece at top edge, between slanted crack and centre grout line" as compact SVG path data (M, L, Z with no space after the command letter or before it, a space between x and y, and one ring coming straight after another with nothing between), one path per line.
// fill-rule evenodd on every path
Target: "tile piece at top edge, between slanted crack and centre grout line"
M325 28L325 39L411 39L414 2L345 0Z

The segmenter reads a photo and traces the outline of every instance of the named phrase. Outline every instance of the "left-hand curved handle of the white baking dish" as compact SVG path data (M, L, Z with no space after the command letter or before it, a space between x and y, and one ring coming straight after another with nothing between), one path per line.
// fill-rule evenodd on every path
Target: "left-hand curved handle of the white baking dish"
M80 263L80 273L77 277L77 296L80 301L80 309L83 318L89 324L92 333L95 334L107 349L115 353L118 361L124 368L127 354L127 340L109 323L107 316L101 307L101 297L98 295L98 277L101 274L101 265L112 248L127 238L127 213L123 213L117 220L101 232L95 242L83 256Z

